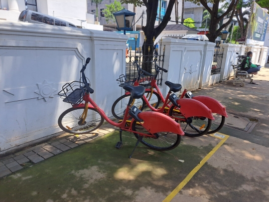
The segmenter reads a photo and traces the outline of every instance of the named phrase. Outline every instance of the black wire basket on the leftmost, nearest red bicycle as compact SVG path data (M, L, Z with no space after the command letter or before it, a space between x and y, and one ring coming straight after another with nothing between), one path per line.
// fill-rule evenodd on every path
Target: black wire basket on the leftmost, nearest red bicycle
M66 83L58 95L63 98L64 102L70 104L79 104L83 101L83 95L86 92L86 87L82 87L84 84L79 81L73 81L72 83Z

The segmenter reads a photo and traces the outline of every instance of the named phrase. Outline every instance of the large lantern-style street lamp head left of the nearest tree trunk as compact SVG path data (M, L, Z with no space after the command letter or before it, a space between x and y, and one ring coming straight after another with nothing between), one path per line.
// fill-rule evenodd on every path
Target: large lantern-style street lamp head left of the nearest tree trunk
M125 8L113 13L117 22L118 30L131 30L134 21L134 12L126 10Z

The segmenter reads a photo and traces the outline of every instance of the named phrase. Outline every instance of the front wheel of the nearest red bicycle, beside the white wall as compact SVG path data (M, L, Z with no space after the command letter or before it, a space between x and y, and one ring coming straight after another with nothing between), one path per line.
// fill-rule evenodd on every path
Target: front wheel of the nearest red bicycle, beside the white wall
M58 119L59 127L72 134L86 134L99 128L104 123L104 118L98 111L88 108L87 117L83 125L79 125L80 116L85 107L69 108Z

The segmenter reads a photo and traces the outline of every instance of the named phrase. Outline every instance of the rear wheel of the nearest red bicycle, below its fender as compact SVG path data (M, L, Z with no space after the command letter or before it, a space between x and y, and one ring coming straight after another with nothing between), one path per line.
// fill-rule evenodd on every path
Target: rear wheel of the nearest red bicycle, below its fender
M132 124L132 130L139 131L142 133L148 133L143 126L141 126L140 124L136 124L136 121L134 121ZM143 138L140 142L150 149L157 151L167 151L176 148L181 141L181 135L178 135L176 133L162 131L155 133L154 135L156 135L156 139ZM136 137L136 139L138 138L138 134L136 134L135 132L134 136Z

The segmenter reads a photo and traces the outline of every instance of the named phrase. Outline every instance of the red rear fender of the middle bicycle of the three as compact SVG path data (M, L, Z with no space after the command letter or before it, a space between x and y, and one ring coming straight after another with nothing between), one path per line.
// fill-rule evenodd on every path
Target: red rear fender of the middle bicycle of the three
M197 100L183 98L183 99L178 99L176 102L177 104L180 105L179 111L185 118L198 116L198 117L206 117L211 120L215 120L215 118L212 115L211 110L208 109L206 105L204 105L203 103ZM170 106L170 108L171 107L172 105Z

